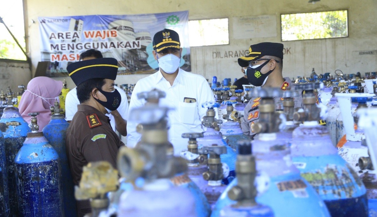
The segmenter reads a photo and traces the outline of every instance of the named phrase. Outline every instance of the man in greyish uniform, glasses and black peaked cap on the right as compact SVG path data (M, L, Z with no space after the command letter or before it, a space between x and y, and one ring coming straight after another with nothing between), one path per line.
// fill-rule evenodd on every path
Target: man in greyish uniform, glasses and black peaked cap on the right
M262 42L249 47L249 55L238 58L241 67L247 67L246 75L254 86L278 87L290 90L293 83L289 77L283 77L283 44ZM261 97L253 96L245 106L245 114L241 120L244 134L253 138L254 124L259 121L259 101ZM282 99L274 98L275 103ZM302 96L294 99L294 107L302 108Z

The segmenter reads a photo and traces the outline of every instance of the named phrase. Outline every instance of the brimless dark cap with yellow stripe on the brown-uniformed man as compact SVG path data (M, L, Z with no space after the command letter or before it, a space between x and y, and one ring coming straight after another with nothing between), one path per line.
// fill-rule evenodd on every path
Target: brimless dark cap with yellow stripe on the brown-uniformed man
M69 64L67 71L76 86L92 78L115 80L118 73L118 61L114 58L78 61Z

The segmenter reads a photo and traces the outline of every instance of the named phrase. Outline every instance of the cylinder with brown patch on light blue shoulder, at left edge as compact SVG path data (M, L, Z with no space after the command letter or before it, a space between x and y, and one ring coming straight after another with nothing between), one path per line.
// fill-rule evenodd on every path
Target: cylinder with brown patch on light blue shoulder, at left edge
M9 103L0 119L0 130L4 136L4 145L0 148L0 151L5 153L6 156L4 175L8 177L10 216L17 217L19 216L19 212L16 197L17 186L14 158L25 141L26 135L31 131L28 123L21 117L18 108L12 105L12 95L8 95L7 97Z

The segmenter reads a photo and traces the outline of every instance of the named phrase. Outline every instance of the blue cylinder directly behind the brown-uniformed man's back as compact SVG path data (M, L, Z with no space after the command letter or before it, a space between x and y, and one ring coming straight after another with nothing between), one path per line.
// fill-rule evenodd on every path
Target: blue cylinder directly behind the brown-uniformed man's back
M53 110L53 115L51 116L51 121L43 128L43 135L59 155L64 214L66 217L75 217L77 215L76 203L72 202L75 201L74 184L66 153L66 134L69 123L65 120L64 115L60 114L57 101L55 101L54 107L51 109Z

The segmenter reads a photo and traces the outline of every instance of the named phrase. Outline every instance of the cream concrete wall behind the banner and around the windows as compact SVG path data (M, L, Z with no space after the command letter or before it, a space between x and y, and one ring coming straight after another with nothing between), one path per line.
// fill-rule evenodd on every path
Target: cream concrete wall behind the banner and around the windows
M284 55L284 76L308 76L312 68L317 73L339 69L343 73L360 73L377 71L377 1L375 0L321 0L310 4L307 0L175 0L175 1L120 1L111 2L102 0L25 0L26 25L29 36L29 55L33 63L33 72L40 61L38 16L71 16L93 14L147 14L169 11L189 10L189 19L229 18L228 45L192 47L192 72L198 73L211 80L216 75L218 79L225 77L241 77L237 57L225 57L224 54L239 50L248 50L250 44L263 41L281 42L280 14L298 12L319 12L338 9L348 9L348 38L314 39L305 41L283 42L286 48ZM234 39L233 23L237 17L253 15L275 15L276 37ZM361 55L362 51L374 51L371 55ZM222 54L222 58L215 53ZM136 83L147 75L118 76L116 83ZM63 78L62 78L63 79ZM69 87L74 84L66 78Z

